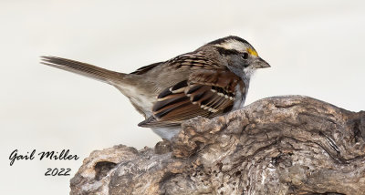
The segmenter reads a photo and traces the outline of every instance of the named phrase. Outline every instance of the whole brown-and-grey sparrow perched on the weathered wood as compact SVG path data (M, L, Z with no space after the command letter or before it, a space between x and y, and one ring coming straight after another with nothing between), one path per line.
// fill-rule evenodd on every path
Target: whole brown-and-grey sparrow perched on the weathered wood
M138 126L167 140L180 132L185 120L243 108L255 70L270 67L239 36L216 39L130 74L57 56L41 56L41 63L117 87L145 118Z

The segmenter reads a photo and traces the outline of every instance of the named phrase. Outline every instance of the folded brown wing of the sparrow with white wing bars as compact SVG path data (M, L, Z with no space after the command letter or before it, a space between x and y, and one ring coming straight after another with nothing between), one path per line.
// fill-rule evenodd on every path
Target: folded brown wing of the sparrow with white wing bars
M195 71L187 80L164 89L152 108L153 116L139 126L168 127L197 116L213 118L233 107L238 83L243 86L227 70Z

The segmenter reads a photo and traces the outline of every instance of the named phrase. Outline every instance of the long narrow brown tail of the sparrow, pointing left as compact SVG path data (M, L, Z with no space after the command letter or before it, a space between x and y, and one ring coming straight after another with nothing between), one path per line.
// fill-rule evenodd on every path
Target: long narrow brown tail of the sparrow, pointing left
M124 73L110 71L101 67L95 67L87 63L78 62L57 56L41 56L42 64L57 67L69 72L77 73L85 77L91 77L99 81L113 85L116 81L123 79Z

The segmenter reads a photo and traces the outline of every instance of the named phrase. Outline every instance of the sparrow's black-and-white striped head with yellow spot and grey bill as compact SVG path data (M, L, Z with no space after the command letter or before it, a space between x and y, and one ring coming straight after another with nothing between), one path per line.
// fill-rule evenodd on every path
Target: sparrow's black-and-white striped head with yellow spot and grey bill
M238 36L226 36L205 46L214 49L224 61L225 66L242 78L249 79L257 68L270 67L257 55L253 46Z

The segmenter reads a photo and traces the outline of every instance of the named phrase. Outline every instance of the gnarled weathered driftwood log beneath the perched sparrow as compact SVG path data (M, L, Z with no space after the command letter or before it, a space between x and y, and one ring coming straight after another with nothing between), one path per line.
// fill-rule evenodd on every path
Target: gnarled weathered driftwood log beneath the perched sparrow
M93 151L70 194L365 194L365 112L261 99L154 149Z

